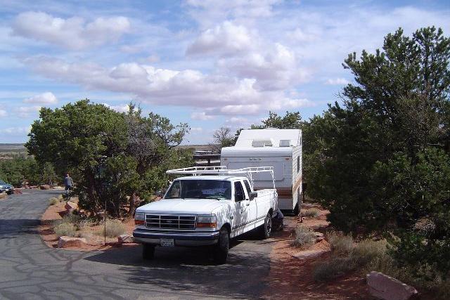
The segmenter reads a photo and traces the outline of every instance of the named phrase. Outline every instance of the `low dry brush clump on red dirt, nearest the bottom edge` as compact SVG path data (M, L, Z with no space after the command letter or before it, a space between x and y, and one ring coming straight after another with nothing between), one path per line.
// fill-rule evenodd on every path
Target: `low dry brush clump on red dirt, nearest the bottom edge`
M316 281L326 281L354 270L354 260L349 257L333 257L329 261L316 263L312 271L312 278Z

